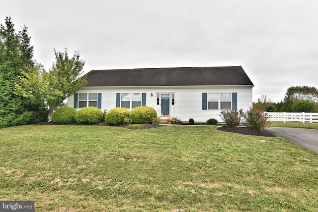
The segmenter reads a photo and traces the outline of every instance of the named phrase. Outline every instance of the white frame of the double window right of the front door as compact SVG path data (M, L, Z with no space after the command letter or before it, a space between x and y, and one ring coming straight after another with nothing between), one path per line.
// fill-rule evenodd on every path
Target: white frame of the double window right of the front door
M218 96L216 98L216 95ZM218 108L211 108L212 105L210 105L209 108L209 103L217 103ZM230 103L230 108L227 108L226 105L229 105ZM225 110L225 109L232 109L232 93L231 92L210 92L207 93L207 109L208 110Z

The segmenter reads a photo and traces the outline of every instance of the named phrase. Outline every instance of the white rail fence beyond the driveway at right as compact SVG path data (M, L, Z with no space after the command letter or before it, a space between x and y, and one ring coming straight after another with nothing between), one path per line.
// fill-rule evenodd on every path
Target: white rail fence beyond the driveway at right
M269 121L299 121L303 123L318 123L318 112L267 112Z

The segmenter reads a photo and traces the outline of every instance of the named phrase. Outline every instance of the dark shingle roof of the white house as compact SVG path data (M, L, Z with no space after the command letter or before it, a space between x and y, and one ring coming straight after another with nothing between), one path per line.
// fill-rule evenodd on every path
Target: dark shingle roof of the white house
M197 86L250 85L241 66L143 68L118 70L91 70L87 85L95 86Z

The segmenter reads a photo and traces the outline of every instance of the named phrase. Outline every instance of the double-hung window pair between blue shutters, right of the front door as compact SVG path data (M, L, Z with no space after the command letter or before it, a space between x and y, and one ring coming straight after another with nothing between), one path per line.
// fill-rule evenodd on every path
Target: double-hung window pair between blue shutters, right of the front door
M232 109L232 93L208 93L208 109Z

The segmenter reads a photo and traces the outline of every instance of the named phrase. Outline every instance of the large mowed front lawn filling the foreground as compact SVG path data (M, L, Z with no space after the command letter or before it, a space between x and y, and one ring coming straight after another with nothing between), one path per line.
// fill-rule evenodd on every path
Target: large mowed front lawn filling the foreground
M35 211L318 211L318 154L279 137L165 126L0 129L0 200Z

